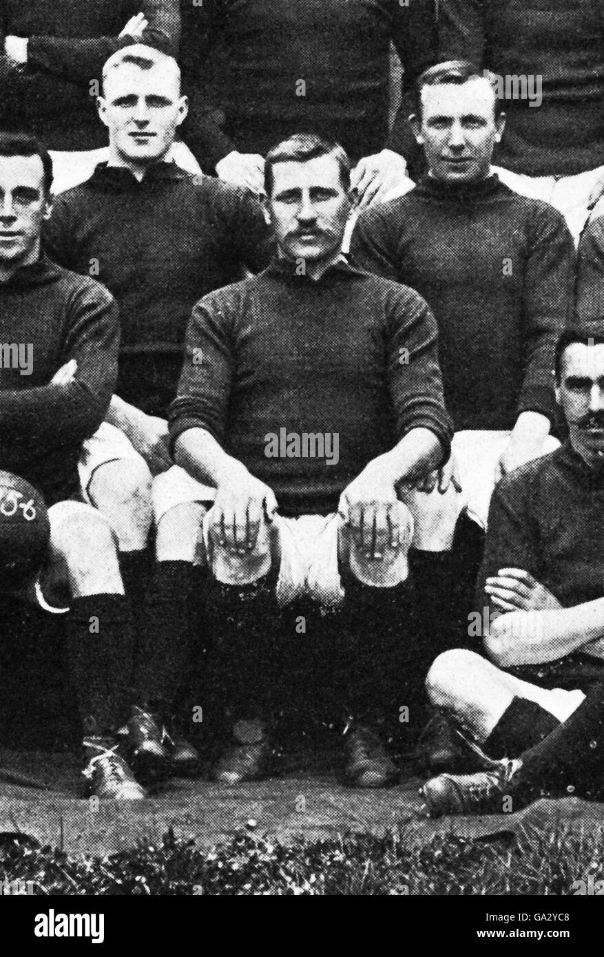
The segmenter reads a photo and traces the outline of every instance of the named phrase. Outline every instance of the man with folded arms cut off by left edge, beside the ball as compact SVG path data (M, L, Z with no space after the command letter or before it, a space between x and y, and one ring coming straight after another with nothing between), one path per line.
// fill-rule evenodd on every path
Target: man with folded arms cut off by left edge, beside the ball
M163 699L162 682L174 661L163 646L148 644L138 649L134 668L134 623L115 535L80 493L81 443L100 426L115 387L118 310L100 283L40 254L52 179L50 156L35 140L0 134L0 338L26 345L31 359L25 369L4 367L5 351L13 352L3 350L0 467L40 489L49 506L44 577L66 583L70 592L66 658L87 732L91 790L100 797L141 798L145 791L117 752L116 732L132 701L138 708L126 751L141 771L189 765L194 755L180 744L149 746L146 704Z

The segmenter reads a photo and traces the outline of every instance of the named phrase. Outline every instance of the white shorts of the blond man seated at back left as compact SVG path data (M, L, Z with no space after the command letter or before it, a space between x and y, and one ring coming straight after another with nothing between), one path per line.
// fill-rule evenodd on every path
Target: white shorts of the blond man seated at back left
M107 462L140 459L129 438L116 426L102 422L97 432L82 444L78 462L79 482L86 501L90 499L90 482L95 471ZM172 465L166 472L155 476L151 486L153 518L158 524L170 508L190 501L213 501L214 488L192 479L185 469Z

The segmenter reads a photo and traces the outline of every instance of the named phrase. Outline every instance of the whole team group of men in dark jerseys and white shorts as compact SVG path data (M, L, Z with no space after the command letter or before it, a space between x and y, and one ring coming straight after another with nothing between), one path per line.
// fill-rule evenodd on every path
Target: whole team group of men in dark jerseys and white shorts
M0 340L74 796L601 800L601 0L0 0Z

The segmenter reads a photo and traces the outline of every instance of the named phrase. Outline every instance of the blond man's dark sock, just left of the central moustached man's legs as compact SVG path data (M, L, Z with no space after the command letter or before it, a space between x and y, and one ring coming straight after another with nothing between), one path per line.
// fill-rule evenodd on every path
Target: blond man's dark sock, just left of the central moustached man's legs
M133 688L135 700L171 711L188 676L190 604L195 580L190 562L158 562L142 609Z

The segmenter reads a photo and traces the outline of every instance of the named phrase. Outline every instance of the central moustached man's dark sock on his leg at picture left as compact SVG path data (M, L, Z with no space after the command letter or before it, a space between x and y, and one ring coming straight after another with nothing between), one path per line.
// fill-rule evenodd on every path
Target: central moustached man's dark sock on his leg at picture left
M269 718L273 685L280 680L280 611L268 575L253 585L208 583L206 624L213 634L208 694L221 711L239 718Z

